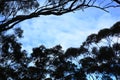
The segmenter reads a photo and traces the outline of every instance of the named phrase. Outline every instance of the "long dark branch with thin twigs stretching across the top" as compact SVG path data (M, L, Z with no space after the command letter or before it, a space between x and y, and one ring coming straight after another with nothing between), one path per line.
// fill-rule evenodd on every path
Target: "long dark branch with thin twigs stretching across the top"
M117 1L117 0L114 0ZM83 10L89 7L94 7L94 8L99 8L103 11L106 11L106 8L110 8L110 7L120 7L120 5L112 5L112 3L110 3L111 5L108 6L103 6L100 7L99 5L96 5L96 0L66 0L64 2L60 2L60 3L56 3L56 4L46 4L45 6L42 6L40 8L37 8L37 10L35 10L34 12L32 12L29 15L18 15L15 16L11 19L7 19L5 20L5 22L0 24L0 32L2 31L6 31L9 30L11 28L13 28L16 24L27 20L27 19L31 19L31 18L35 18L35 17L39 17L40 15L62 15L65 13L69 13L69 12L73 12L76 10Z

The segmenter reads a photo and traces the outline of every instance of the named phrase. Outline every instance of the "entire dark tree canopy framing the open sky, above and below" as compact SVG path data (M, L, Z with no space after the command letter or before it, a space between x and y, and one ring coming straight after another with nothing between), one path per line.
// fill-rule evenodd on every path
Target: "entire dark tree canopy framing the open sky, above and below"
M120 79L120 22L89 35L78 48L40 45L32 53L18 41L23 30L7 30L41 15L57 15L89 7L107 11L119 0L0 0L0 80ZM28 56L30 54L30 56Z

